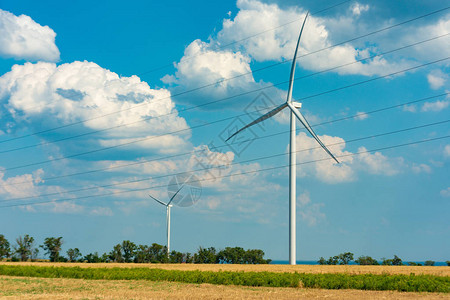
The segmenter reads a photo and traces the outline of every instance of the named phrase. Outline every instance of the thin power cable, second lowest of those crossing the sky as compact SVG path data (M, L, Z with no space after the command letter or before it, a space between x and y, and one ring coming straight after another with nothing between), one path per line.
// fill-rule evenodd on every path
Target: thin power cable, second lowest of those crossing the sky
M343 141L343 142L338 142L338 143L333 143L333 144L327 144L326 146L327 147L331 147L331 146L336 146L336 145L341 145L341 144L349 144L349 143L354 143L354 142L357 142L357 141L362 141L362 140L367 140L367 139L372 139L372 138L378 138L378 137L382 137L382 136L386 136L386 135L402 133L402 132L416 130L416 129L421 129L421 128L430 127L430 126L441 125L441 124L445 124L445 123L448 123L448 122L450 122L450 119L444 120L444 121L439 121L439 122L434 122L434 123L428 123L428 124L424 124L424 125L420 125L420 126L404 128L404 129L395 130L395 131L389 131L389 132L380 133L380 134L374 134L374 135L370 135L370 136L366 136L366 137L355 138L355 139L348 140L348 141ZM320 149L320 148L321 148L320 146L317 146L317 147L308 148L308 149L301 149L301 150L298 150L296 152L304 152L304 151L310 151L310 150L315 150L315 149ZM274 154L274 155L263 156L263 157L259 157L259 158L252 158L252 159L248 159L248 160L245 160L245 161L234 162L234 163L231 163L231 164L227 164L226 166L229 167L229 166L233 166L233 165L240 165L240 164L244 164L244 163L249 163L249 162L254 162L254 161L261 161L261 160L271 159L271 158L285 156L285 155L287 155L287 154L283 152L283 153L280 153L280 154ZM154 179L172 177L172 176L181 175L181 174L184 174L184 173L197 173L197 172L202 172L202 171L220 169L222 167L224 167L224 166L223 165L222 166L211 166L211 167L200 168L200 169L196 169L196 170L192 170L192 171L177 172L177 173L160 175L160 176L150 176L150 177L141 178L141 179L135 179L135 180L131 180L131 181L123 181L123 182L111 183L111 184L107 184L107 185L93 186L93 187L87 187L87 188L80 188L80 189L69 190L69 191L64 191L64 192L54 192L54 193L42 194L42 195L38 195L38 196L28 196L28 197L20 197L20 198L12 198L12 199L7 199L7 200L0 200L0 202L18 201L18 200L26 200L26 199L32 199L32 198L41 198L41 197L48 197L48 196L54 196L54 195L61 195L61 194L67 194L67 193L82 192L82 191L94 190L94 189L99 189L99 188L107 188L107 187L113 187L113 186L119 186L119 185L138 183L138 182L143 182L143 181L147 181L147 180L154 180Z

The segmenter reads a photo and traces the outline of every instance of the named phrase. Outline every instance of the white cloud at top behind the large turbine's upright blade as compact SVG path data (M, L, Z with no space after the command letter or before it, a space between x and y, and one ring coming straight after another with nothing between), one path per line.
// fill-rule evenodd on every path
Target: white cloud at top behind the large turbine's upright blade
M217 35L219 44L236 43L235 49L248 54L256 61L270 61L292 59L298 39L300 22L305 18L306 11L299 7L282 9L276 4L266 4L257 0L239 0L240 9L234 19L225 19L223 29ZM368 7L358 5L360 12ZM287 26L287 21L298 20ZM354 27L354 18L324 19L310 16L305 25L300 44L300 56L330 47L333 42L328 26ZM275 28L274 30L272 30ZM264 34L258 34L267 30ZM251 39L245 39L252 36ZM337 69L340 74L375 75L385 74L403 68L407 63L388 62L383 57L373 58L363 62L356 62L361 58L371 56L377 52L376 48L355 48L351 44L344 44L298 60L299 64L309 70L319 71L337 67L346 63L353 63L348 67Z

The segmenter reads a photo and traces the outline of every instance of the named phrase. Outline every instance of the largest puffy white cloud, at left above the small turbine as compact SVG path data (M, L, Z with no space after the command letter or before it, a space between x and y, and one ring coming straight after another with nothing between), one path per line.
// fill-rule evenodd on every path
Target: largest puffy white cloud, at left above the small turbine
M5 132L13 131L14 124L38 131L91 119L83 123L84 128L104 131L88 136L85 143L114 146L146 139L134 145L162 152L180 149L190 137L168 90L151 89L137 76L120 77L87 61L14 65L0 77L0 101L8 121L2 125ZM59 132L71 136L74 128Z

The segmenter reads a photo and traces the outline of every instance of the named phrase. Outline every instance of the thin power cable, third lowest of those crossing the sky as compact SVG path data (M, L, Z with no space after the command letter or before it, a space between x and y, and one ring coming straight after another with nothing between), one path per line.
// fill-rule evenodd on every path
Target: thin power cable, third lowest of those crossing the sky
M429 96L429 97L425 97L425 98L421 98L421 99L416 99L416 100L413 100L413 101L403 102L403 103L400 103L400 104L391 105L391 106L388 106L388 107L382 107L382 108L378 108L378 109L375 109L375 110L372 110L372 111L364 112L364 114L365 115L370 115L370 114L374 114L374 113L378 113L378 112L383 112L383 111L386 111L386 110L389 110L389 109L394 109L394 108L402 107L402 106L405 106L405 105L411 105L411 104L423 102L423 101L426 101L426 100L431 100L431 99L435 99L435 98L438 98L438 97L447 96L449 94L450 94L450 92L447 92L447 93L443 93L443 94L439 94L439 95L434 95L434 96ZM255 110L253 112L259 112L259 111L262 111L262 109ZM245 114L241 114L241 115L235 116L235 118L239 117L239 116L242 116L242 115L245 115ZM354 119L354 118L356 118L358 116L360 116L360 114L356 114L356 115L352 115L352 116L347 116L347 117L343 117L343 118L339 118L339 119L334 119L334 120L330 120L330 121L314 124L311 127L316 127L316 126L331 124L331 123L335 123L335 122L345 121L345 120L349 120L349 119ZM303 130L303 129L301 129L301 130ZM239 144L239 143L245 143L245 142L249 142L249 141L252 141L252 140L265 139L265 138L278 136L278 135L289 133L289 132L290 132L289 130L288 131L281 131L281 132L277 132L277 133L273 133L273 134L268 134L268 135L264 135L264 136L254 137L252 139L248 139L248 140L244 140L244 141L237 141L237 142L234 142L234 143L226 143L226 144L223 144L223 145L215 146L215 147L211 148L210 150L218 150L220 148L229 147L231 145L235 145L235 144ZM172 159L172 158L176 158L176 157L181 157L181 156L186 156L186 155L190 155L190 154L195 154L195 153L201 152L201 151L202 150L194 150L194 151L189 151L189 152L184 152L184 153L179 153L179 154L174 154L174 155L169 155L169 156L164 156L164 157L159 157L159 158L153 158L153 159L148 159L148 160L143 160L143 161L138 161L138 162L132 162L132 163L129 163L129 164L124 164L124 165L111 166L111 167L102 168L102 169L94 169L94 170L77 172L77 173L71 173L71 174L66 174L66 175L59 175L59 176L54 176L54 177L45 177L45 178L42 178L42 180L43 181L49 181L49 180L54 180L54 179L61 179L61 178L66 178L66 177L97 173L97 172L101 172L101 171L107 171L107 170L112 170L112 169L118 169L118 168L124 168L124 167L129 167L129 166L140 165L140 164L146 164L146 163L150 163L150 162L154 162L154 161L160 161L160 160L165 160L165 159ZM30 182L33 182L33 181L34 180L14 182L14 183L0 185L0 187L1 186L12 186L12 185L30 183Z

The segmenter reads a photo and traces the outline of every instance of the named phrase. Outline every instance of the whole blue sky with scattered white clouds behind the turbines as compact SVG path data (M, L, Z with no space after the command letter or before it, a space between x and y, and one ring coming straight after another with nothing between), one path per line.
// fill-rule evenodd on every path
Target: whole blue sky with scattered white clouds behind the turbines
M448 260L450 10L338 3L2 1L0 233L164 244L148 193L189 172L173 249L287 259L288 115L224 138L284 101L310 10L293 98L341 164L298 127L297 258Z

